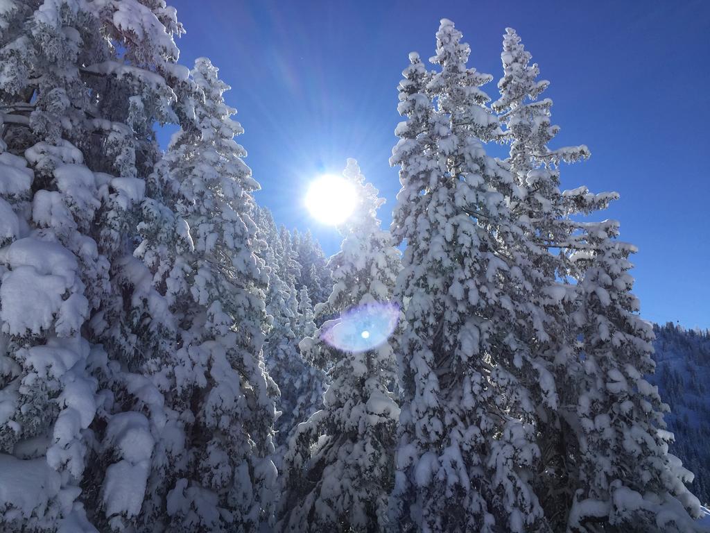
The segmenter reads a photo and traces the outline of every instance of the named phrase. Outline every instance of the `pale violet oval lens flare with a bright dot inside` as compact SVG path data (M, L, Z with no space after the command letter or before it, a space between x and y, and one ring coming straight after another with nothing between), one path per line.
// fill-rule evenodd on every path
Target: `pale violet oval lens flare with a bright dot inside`
M344 352L366 352L382 345L397 327L396 303L366 303L324 324L321 338Z

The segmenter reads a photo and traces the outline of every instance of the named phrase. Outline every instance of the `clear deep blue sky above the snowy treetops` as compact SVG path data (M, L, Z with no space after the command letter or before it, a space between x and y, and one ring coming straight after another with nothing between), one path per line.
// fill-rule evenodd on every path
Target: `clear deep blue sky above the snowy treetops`
M710 1L231 1L168 0L187 29L181 63L202 55L232 86L239 141L262 189L257 200L287 227L310 227L326 252L335 230L303 207L307 183L358 159L388 200L388 158L400 72L429 58L439 19L471 45L469 66L501 76L506 26L523 38L551 85L557 145L591 159L563 168L562 185L617 190L606 217L636 244L642 314L710 327ZM484 86L496 99L496 82ZM497 152L496 152L497 153Z

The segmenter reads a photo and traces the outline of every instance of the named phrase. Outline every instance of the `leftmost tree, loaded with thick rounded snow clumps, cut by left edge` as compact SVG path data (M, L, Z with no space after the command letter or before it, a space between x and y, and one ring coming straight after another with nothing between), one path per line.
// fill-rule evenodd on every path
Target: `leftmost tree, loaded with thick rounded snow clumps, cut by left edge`
M97 305L92 276L98 298L107 288L105 259L86 235L99 191L82 152L65 139L74 132L62 128L72 115L86 120L88 102L76 66L83 50L61 35L81 35L91 14L3 7L0 529L54 530L72 508L82 513L82 431L94 418L96 382L80 331Z

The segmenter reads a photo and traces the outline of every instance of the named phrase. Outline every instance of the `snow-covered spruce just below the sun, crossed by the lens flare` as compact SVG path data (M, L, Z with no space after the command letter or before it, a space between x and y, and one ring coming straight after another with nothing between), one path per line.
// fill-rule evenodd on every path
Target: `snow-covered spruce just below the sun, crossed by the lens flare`
M359 306L389 303L400 253L381 230L383 203L354 159L344 176L359 193L359 208L341 226L344 237L330 266L334 287L316 314L341 315ZM284 458L281 531L375 532L386 524L393 486L395 427L399 408L391 392L391 343L361 352L334 348L323 338L325 323L300 346L304 356L328 367L331 383L324 407L297 426Z

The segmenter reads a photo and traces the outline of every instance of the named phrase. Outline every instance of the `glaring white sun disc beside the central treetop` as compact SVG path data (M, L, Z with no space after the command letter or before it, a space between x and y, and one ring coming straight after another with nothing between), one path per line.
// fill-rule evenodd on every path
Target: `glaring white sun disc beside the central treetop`
M306 207L323 224L337 226L355 209L357 193L349 181L339 176L320 176L310 184Z

